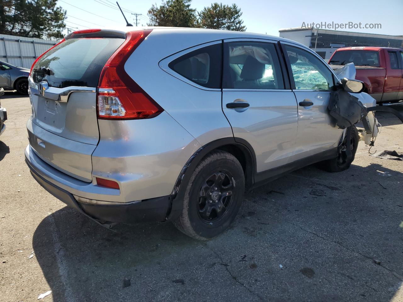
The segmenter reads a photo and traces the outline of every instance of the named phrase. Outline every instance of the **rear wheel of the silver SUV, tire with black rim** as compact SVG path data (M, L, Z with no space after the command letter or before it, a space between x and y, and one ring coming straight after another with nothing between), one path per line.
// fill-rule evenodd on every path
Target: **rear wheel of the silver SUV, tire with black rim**
M182 213L172 222L192 238L214 238L235 219L244 191L245 176L239 161L228 152L213 151L193 171Z

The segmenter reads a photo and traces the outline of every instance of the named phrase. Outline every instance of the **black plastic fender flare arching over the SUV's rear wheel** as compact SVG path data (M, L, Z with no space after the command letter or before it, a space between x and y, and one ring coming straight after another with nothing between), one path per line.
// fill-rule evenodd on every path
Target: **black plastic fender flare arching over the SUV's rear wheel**
M167 221L177 218L182 213L182 201L185 197L187 183L189 182L191 175L196 169L198 163L211 151L216 149L225 150L226 147L231 146L242 152L245 158L245 163L243 165L245 171L245 184L247 188L253 186L254 175L256 172L256 155L253 147L247 141L241 138L226 137L212 141L199 148L183 166L170 195L171 207L166 216Z

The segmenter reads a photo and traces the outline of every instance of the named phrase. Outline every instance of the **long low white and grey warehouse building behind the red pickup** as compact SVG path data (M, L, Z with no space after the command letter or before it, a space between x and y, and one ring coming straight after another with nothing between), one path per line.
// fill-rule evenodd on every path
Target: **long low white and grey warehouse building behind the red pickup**
M403 48L403 36L302 27L280 29L278 32L280 37L297 41L312 49L315 49L316 45L316 52L325 60L330 59L334 50L340 47L381 46Z

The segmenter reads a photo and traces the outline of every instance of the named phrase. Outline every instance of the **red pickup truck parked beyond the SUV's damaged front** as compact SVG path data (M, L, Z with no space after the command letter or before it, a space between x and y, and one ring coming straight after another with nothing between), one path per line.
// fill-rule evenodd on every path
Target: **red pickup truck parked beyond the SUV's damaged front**
M333 69L353 62L355 79L363 81L366 93L377 103L403 99L403 49L387 47L343 47L330 57Z

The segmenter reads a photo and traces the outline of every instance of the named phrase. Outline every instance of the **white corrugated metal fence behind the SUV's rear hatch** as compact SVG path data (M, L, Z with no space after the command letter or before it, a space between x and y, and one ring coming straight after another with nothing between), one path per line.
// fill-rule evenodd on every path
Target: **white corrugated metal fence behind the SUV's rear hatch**
M0 35L0 60L31 68L35 58L54 46L58 41Z

